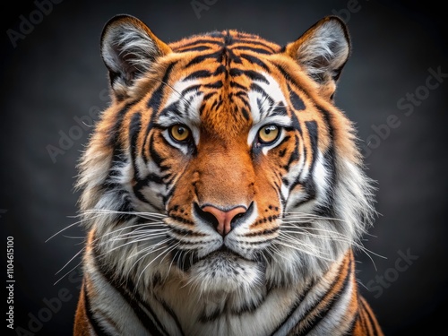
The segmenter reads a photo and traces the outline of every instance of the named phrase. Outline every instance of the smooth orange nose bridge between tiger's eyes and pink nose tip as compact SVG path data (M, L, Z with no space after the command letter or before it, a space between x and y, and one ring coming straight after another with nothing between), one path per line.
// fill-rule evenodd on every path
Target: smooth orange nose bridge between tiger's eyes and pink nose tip
M200 151L196 185L199 202L222 209L248 206L253 197L254 168L246 149L235 142L215 143Z

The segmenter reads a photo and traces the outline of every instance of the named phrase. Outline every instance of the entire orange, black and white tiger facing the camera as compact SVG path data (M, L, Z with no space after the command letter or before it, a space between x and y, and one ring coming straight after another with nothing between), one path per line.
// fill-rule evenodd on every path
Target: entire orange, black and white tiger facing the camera
M374 188L333 101L344 22L168 44L118 15L100 51L74 335L383 335L353 256Z

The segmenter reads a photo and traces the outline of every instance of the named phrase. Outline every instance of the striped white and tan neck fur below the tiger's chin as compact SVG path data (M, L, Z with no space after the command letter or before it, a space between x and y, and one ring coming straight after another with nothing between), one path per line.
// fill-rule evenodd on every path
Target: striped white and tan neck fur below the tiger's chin
M321 314L342 318L353 296L358 296L353 270L349 251L322 278L294 287L203 293L182 281L169 281L148 299L151 306L160 307L164 325L177 325L173 334L296 334L318 323ZM339 314L333 312L336 308Z

